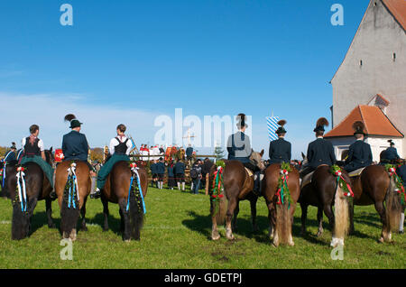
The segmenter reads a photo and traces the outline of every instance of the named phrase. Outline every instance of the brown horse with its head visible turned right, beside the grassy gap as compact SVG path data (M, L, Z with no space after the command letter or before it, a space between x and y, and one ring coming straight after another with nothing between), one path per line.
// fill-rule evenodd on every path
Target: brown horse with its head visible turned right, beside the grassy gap
M263 151L261 153L252 152L250 160L261 170L264 170L262 162ZM223 171L223 186L218 205L215 204L213 199L213 190L209 190L210 195L210 215L212 219L212 232L211 238L218 240L220 235L217 230L217 224L224 224L226 221L226 238L229 240L235 239L233 230L236 230L236 218L239 212L239 202L248 199L251 204L251 218L254 231L257 230L256 226L256 201L258 196L252 192L254 190L254 176L246 171L242 162L238 161L224 161L226 166ZM210 169L209 184L213 185L215 181L215 171L217 169L214 164ZM251 172L251 171L250 171ZM224 198L224 194L226 198ZM226 200L228 201L226 207ZM218 209L218 210L217 210ZM232 219L234 220L232 222ZM233 225L233 226L232 226Z

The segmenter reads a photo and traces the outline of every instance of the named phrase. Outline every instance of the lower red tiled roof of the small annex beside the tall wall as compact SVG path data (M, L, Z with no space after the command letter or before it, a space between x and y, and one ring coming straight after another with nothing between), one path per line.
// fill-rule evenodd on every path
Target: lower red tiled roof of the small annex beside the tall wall
M356 106L346 118L324 137L353 136L353 124L361 121L365 125L366 134L389 137L403 137L389 118L383 114L378 106Z

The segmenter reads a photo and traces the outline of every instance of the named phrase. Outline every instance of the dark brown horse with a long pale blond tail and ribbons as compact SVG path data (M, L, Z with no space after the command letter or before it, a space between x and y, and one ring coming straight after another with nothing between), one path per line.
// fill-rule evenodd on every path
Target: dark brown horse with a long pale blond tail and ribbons
M306 166L308 159L302 153L302 168ZM328 217L332 229L333 238L331 246L344 245L344 237L348 234L348 220L351 202L344 196L345 191L338 184L337 176L330 171L330 166L320 165L311 176L311 181L301 183L300 197L298 202L301 208L301 235L306 234L306 220L309 205L318 208L318 235L323 234L323 211ZM350 184L348 173L342 172L343 179ZM300 175L301 177L301 175ZM302 179L303 180L303 179ZM350 184L351 188L351 184ZM336 205L336 208L333 206Z

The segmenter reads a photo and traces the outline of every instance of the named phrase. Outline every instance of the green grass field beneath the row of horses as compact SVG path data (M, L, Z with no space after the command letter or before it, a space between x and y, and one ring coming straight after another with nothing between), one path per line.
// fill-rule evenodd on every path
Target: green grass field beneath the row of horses
M88 231L78 232L73 260L61 260L59 229L46 225L45 203L39 202L32 218L32 235L11 240L12 208L0 199L0 268L405 268L406 240L393 235L394 242L380 244L381 223L374 207L355 207L355 236L346 239L344 260L330 257L331 232L316 237L316 208L309 208L308 236L300 236L298 206L293 236L295 246L274 247L267 237L268 220L264 200L258 201L258 226L252 233L249 203L241 202L235 241L210 240L208 196L178 190L149 188L146 220L141 241L125 243L119 232L118 206L110 204L110 230L102 231L102 204L88 200ZM52 203L53 217L60 225L60 208Z

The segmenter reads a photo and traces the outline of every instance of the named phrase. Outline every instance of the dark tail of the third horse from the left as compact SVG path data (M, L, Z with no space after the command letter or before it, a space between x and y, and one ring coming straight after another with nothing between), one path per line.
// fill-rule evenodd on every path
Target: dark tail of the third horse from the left
M135 240L140 240L141 228L143 227L143 199L141 198L141 192L142 190L136 189L130 192L130 228L131 236Z

